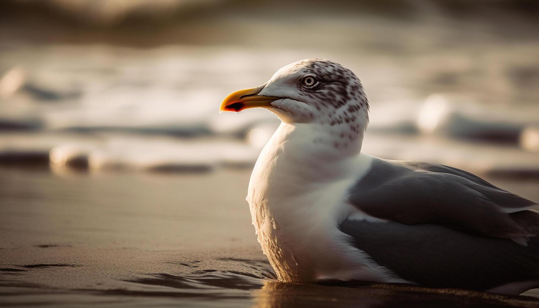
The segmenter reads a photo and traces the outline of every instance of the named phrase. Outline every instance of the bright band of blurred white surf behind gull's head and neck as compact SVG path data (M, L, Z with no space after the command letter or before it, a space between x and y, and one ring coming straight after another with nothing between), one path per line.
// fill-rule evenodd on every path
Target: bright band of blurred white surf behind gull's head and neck
M275 55L234 47L46 46L3 53L0 61L18 65L0 78L0 164L152 172L251 167L279 121L262 109L218 114L219 102L237 88L264 83L286 59L302 57L295 50ZM405 91L404 72L372 56L376 65L341 57L374 84L367 86L375 97L367 153L481 173L538 173L539 105L492 105L499 92L461 86L422 97L437 81L423 93L395 95ZM379 73L384 67L391 77ZM416 83L426 83L432 73L415 74ZM392 92L385 91L388 81ZM512 87L508 98L519 86ZM457 152L448 156L448 148Z

